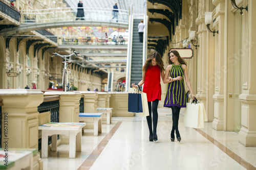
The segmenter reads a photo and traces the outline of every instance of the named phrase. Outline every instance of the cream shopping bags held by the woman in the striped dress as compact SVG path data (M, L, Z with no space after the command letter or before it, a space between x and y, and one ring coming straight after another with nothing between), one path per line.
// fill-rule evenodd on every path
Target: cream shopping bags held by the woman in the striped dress
M184 126L190 128L204 128L204 122L207 122L207 116L203 103L193 101L187 103L184 113Z

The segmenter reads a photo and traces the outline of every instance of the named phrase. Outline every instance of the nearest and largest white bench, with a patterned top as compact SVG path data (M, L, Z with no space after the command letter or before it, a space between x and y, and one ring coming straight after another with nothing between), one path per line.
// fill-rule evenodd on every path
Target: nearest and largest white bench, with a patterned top
M38 127L42 130L41 157L48 157L48 136L52 136L52 151L57 151L57 135L69 135L69 158L76 157L76 151L81 152L82 128L86 123L47 123Z

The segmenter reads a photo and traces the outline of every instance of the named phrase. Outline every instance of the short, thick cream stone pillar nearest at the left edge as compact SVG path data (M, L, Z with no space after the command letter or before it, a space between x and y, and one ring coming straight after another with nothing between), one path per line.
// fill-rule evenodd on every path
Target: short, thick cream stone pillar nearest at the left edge
M38 148L37 107L44 101L40 90L0 89L3 100L2 146L8 141L8 148ZM7 122L5 122L7 121ZM8 125L6 125L6 123Z

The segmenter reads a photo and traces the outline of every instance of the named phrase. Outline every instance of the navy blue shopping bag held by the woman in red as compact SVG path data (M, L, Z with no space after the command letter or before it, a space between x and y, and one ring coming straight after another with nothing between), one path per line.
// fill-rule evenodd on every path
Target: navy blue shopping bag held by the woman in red
M135 90L128 94L128 111L140 113L143 112L142 108L142 95Z

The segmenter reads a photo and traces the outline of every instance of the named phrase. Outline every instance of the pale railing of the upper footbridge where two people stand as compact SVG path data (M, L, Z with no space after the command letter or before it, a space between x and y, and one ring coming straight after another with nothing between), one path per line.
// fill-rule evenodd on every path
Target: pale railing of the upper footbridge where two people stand
M52 8L41 10L20 10L21 23L36 24L47 22L63 21L94 21L94 22L118 22L128 23L129 13L127 10L118 10L118 19L112 19L112 10L110 8L82 8L84 17L76 17L78 8ZM28 19L29 18L29 19Z

